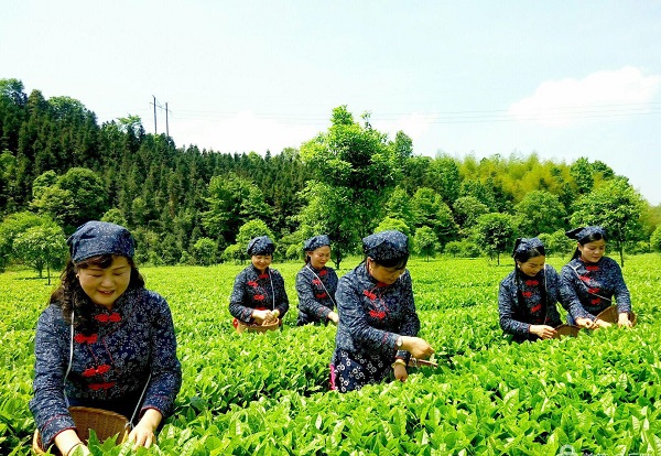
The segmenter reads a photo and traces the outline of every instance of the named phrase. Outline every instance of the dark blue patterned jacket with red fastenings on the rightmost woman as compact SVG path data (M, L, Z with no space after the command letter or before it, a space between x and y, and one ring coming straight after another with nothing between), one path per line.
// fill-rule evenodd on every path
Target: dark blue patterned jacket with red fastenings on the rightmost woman
M590 318L617 302L618 313L631 312L631 296L619 264L609 257L596 263L574 258L562 268L563 305L576 318Z

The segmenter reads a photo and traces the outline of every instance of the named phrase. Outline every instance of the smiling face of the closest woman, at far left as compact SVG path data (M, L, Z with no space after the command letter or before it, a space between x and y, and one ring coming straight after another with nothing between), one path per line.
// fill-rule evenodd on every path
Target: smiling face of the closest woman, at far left
M126 257L113 256L112 263L104 269L96 264L78 268L78 281L93 303L112 308L131 282L131 264Z

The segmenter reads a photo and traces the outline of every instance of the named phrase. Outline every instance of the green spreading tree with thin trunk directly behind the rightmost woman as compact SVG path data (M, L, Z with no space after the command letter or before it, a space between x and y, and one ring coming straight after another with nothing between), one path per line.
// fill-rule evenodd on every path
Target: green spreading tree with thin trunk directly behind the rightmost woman
M572 225L598 225L606 228L625 265L624 249L642 230L640 217L644 202L626 178L616 177L589 195L582 196L574 205Z

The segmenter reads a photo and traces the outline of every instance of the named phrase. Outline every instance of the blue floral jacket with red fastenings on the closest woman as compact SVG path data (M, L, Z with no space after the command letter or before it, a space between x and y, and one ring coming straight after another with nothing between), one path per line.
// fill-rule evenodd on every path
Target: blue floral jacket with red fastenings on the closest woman
M39 318L30 410L46 446L62 431L75 427L67 400L87 406L127 405L122 401L139 398L151 373L141 411L156 409L167 416L180 391L182 370L174 325L161 295L129 290L111 312L94 305L91 316L97 332L84 335L74 329L73 339L57 304L52 303ZM65 383L72 345L73 361ZM132 412L137 405L136 401L127 409Z

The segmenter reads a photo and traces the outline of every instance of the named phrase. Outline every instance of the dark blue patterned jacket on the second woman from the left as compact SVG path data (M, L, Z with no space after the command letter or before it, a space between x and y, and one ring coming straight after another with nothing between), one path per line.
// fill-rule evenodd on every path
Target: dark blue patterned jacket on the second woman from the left
M229 296L229 313L248 324L251 323L251 315L256 308L278 310L281 319L289 311L284 279L278 270L267 268L261 274L250 264L237 274Z

